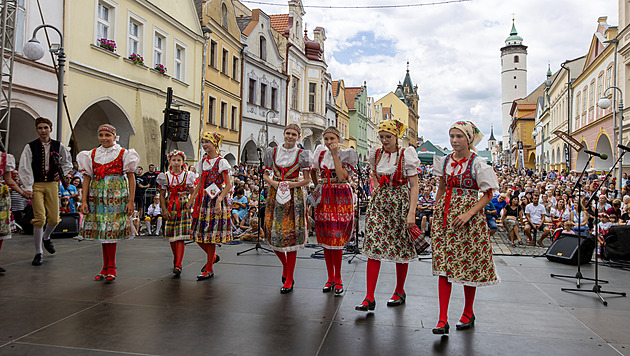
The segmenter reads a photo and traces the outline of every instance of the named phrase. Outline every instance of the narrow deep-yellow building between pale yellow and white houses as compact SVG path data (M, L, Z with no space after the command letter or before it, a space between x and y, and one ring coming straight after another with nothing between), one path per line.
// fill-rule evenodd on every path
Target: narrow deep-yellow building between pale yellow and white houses
M239 162L243 61L241 31L231 1L196 0L201 22L212 34L206 53L204 131L224 135L221 155Z

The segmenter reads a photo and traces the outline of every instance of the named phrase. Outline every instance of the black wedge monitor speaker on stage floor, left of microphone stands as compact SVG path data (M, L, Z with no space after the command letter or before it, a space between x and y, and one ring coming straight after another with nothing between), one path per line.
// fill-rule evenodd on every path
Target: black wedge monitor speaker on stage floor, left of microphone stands
M595 240L590 237L578 239L574 234L560 234L556 241L545 252L545 257L551 262L559 262L577 266L578 263L578 241L581 241L580 263L585 264L591 261L595 250Z

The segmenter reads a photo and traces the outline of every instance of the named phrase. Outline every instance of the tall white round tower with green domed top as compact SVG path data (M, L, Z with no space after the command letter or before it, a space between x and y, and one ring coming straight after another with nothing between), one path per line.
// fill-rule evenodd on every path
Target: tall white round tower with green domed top
M527 46L523 45L523 38L518 36L514 19L510 37L505 39L505 47L501 48L501 109L503 149L510 150L510 108L516 99L527 96Z

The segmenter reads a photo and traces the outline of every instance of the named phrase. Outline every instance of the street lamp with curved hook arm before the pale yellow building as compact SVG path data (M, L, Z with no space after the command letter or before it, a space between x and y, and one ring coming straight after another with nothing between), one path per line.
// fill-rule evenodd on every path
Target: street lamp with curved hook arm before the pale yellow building
M37 40L37 31L48 27L57 31L59 34L59 43L50 45L50 52L57 55L57 140L61 141L61 126L63 121L63 73L66 64L66 54L63 52L63 35L61 31L53 25L39 25L33 30L33 38L31 38L23 48L24 56L32 61L37 61L44 57L44 48Z

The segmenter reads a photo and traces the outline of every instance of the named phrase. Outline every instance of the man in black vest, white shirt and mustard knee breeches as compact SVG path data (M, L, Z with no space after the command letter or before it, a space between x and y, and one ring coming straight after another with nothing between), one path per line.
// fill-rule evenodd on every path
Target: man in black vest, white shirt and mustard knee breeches
M20 157L20 179L27 197L32 199L35 216L32 220L33 266L40 266L44 261L42 242L46 251L55 253L50 234L59 224L59 180L72 170L72 158L66 146L50 138L52 127L52 122L46 118L35 119L39 138L24 146Z

